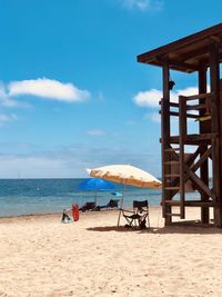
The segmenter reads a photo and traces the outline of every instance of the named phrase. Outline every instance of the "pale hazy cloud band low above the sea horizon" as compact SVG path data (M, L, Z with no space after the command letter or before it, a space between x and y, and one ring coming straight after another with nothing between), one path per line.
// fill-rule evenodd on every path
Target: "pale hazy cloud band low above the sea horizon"
M0 143L0 178L79 178L88 177L85 168L94 168L105 164L132 164L147 168L159 176L160 161L157 151L137 151L134 147L57 147L42 151L32 143L32 150L22 150L21 143ZM6 147L3 147L6 146ZM31 146L31 143L30 143ZM36 147L36 149L34 149ZM158 159L158 161L157 161Z

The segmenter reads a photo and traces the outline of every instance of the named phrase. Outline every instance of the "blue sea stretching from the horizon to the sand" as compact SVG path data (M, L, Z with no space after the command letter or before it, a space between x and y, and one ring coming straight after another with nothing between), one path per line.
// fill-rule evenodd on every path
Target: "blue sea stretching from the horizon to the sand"
M124 192L123 207L132 206L133 200L148 199L150 206L160 206L161 190L138 188L114 184L113 190L87 191L78 186L83 178L70 179L0 179L0 217L34 214L57 214L73 204L79 207L87 201L107 205L114 197L113 191Z

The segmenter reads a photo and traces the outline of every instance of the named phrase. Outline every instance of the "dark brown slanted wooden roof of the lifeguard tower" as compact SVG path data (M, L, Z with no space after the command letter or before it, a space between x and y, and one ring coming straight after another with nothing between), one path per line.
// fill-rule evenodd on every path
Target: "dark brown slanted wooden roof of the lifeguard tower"
M171 69L194 72L199 70L200 62L209 66L209 44L212 41L219 43L222 62L222 23L139 55L138 61L161 67L163 58L168 57Z

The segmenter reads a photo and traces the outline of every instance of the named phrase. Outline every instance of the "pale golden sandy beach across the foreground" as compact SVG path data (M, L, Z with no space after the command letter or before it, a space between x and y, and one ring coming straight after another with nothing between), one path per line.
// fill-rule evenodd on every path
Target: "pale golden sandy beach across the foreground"
M118 229L117 218L1 218L0 296L222 296L221 230L163 228L159 207L148 230Z

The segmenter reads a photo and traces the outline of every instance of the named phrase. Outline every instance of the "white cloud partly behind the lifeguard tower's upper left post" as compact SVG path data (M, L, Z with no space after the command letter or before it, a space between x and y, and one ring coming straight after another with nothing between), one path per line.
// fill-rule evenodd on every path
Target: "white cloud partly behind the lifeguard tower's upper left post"
M199 93L198 88L189 87L181 90L175 90L170 92L170 98L172 102L178 102L179 96L191 96ZM133 97L133 101L139 107L151 107L157 108L159 107L159 101L162 98L162 91L157 89L151 89L148 91L140 91Z

